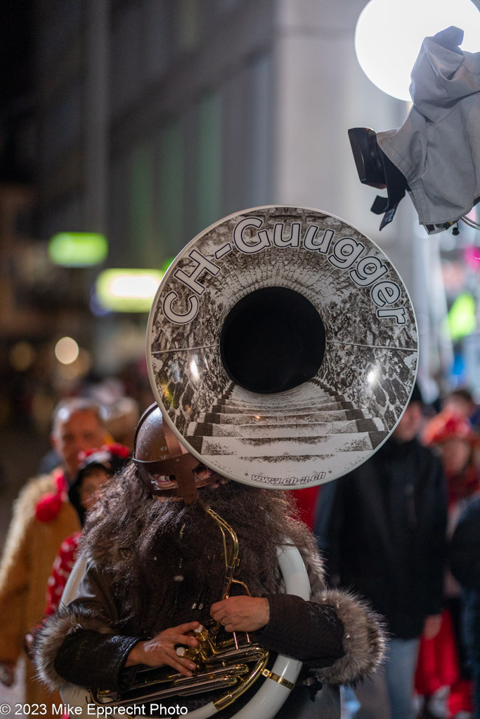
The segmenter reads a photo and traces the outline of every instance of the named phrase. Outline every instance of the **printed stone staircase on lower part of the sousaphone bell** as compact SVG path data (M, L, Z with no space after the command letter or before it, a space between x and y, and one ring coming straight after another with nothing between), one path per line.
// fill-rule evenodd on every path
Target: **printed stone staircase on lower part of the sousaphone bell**
M274 463L284 477L282 464L291 466L292 459L302 459L311 475L320 474L319 480L327 480L330 477L323 464L332 454L349 452L352 465L358 464L388 432L381 418L355 409L337 393L322 388L319 380L308 384L306 402L304 392L290 390L286 399L283 395L256 395L232 383L211 411L189 424L185 439L207 462L217 463L222 455L234 454L253 464ZM258 408L255 414L253 401ZM306 455L309 438L311 451ZM302 477L292 477L292 485L296 479Z

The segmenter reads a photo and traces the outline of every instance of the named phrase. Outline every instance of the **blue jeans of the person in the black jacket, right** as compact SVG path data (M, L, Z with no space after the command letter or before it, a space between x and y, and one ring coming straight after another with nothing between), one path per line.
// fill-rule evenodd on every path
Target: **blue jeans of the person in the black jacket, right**
M390 639L383 669L356 687L352 719L415 719L413 690L419 639Z

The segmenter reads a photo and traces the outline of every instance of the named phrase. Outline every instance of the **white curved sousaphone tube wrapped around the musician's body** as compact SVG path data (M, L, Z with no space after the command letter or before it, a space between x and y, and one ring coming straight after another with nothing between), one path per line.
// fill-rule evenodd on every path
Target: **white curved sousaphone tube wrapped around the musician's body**
M296 549L295 546L286 545L279 547L277 556L286 594L293 594L308 600L311 594L310 582L299 550ZM76 598L85 568L86 560L78 559L65 585L61 601L62 605L68 604ZM286 679L287 682L295 684L301 669L302 661L294 659L291 656L279 654L270 673L272 676L281 677L282 679ZM280 684L276 679L267 677L255 696L235 714L235 719L258 719L258 717L262 717L262 719L273 719L286 701L289 693L290 690L285 685ZM88 689L85 687L77 687L74 684L68 684L67 687L60 690L60 695L65 704L71 705L72 707L81 707L82 713L76 714L76 716L91 716L91 713L89 713L89 705L90 707L94 707L94 704ZM108 705L105 706L106 708L108 707ZM189 712L189 718L207 719L217 713L217 708L214 706L214 703L209 702L203 707ZM115 711L112 711L112 713L108 715L114 719L119 719L120 716L124 717L124 713L120 715Z

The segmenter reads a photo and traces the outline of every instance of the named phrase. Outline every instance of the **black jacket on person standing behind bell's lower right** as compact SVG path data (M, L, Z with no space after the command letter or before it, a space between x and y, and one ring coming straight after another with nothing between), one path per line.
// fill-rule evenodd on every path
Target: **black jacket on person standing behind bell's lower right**
M420 636L443 605L447 518L440 459L390 439L320 491L314 533L330 579L384 615L392 636Z

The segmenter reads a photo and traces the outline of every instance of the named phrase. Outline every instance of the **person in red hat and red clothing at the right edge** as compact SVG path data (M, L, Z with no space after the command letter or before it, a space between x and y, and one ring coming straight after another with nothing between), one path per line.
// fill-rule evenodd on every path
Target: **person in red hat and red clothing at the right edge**
M480 488L480 436L465 413L458 411L457 403L448 403L427 423L423 439L440 454L447 477L447 539L450 541L468 498ZM438 636L420 647L417 690L422 695L432 694L438 699L444 697L445 715L469 716L471 681L461 632L461 588L448 566L445 567L445 599L446 609ZM433 710L434 702L430 705ZM435 713L439 714L440 708Z

